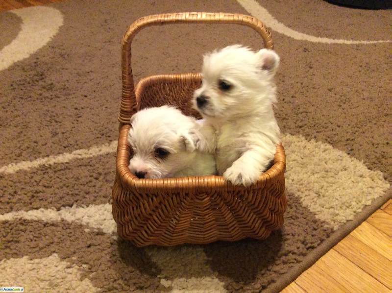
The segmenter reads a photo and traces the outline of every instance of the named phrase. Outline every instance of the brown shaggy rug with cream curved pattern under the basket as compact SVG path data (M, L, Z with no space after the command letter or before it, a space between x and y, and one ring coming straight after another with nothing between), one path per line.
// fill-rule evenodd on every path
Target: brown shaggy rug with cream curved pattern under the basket
M111 215L120 42L139 17L250 14L282 62L284 227L265 241L136 248ZM26 292L276 292L391 197L392 11L325 1L64 1L0 14L0 286ZM250 28L143 30L136 80L262 46Z

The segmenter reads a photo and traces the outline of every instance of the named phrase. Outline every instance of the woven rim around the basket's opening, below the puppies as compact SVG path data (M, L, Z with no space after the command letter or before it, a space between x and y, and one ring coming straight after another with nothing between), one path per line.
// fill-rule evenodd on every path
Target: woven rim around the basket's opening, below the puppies
M140 99L144 90L157 83L187 83L200 79L200 73L179 73L179 74L157 74L142 78L135 87L137 100L137 110L139 111ZM139 179L128 168L130 159L130 146L127 141L127 134L130 129L129 123L120 127L120 135L117 146L117 164L116 171L120 176L123 186L141 190L211 190L211 189L244 189L244 186L233 186L225 181L223 176L189 176L161 179ZM257 183L246 187L246 189L262 188L266 183L276 179L282 172L286 170L286 155L282 144L276 147L274 156L274 164L272 167L260 175Z

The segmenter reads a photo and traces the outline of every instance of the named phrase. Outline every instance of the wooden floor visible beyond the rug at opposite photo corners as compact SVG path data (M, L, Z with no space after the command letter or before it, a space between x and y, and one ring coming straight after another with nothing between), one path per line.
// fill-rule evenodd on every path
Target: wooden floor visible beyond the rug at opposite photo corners
M61 0L0 0L0 12ZM283 293L392 292L392 200L304 271Z

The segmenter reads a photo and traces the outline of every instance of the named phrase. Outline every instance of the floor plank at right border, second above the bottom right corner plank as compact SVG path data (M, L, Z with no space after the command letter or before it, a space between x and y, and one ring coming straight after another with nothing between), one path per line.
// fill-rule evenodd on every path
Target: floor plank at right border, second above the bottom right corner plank
M392 261L392 237L366 221L350 234Z

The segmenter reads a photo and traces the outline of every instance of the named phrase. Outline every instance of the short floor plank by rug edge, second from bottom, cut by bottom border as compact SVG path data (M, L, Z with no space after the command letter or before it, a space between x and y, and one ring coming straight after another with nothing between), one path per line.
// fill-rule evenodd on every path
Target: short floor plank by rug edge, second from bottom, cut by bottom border
M305 270L296 280L302 289L311 293L325 293L325 292L348 292L342 284L338 283L329 274L326 274L318 266L313 265Z

